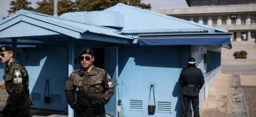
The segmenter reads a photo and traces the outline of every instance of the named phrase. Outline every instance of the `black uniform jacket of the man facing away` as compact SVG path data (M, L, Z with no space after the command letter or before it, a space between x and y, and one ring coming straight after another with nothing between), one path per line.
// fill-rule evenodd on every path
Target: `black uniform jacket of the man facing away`
M204 84L203 73L199 68L188 66L182 69L178 82L183 87L183 95L198 97Z

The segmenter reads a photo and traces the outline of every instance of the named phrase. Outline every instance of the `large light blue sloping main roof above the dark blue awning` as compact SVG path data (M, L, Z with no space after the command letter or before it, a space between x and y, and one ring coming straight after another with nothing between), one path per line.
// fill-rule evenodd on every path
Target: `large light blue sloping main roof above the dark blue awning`
M186 32L186 29L215 29L215 32L228 32L224 29L219 29L213 26L203 25L187 20L175 18L169 15L164 15L149 11L146 9L140 9L132 7L123 3L119 3L113 7L105 9L104 11L111 11L125 14L124 27L122 32L129 33L148 33L163 31L162 29L179 29L180 32ZM157 31L152 31L157 30ZM184 31L183 31L184 30ZM135 31L135 32L132 32ZM141 31L141 32L139 32ZM165 31L164 31L165 32Z

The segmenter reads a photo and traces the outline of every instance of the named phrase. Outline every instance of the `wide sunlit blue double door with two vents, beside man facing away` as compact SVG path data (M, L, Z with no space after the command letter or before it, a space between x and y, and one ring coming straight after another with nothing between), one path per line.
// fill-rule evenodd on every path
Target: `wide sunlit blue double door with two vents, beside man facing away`
M179 58L179 49L123 49L120 76L123 117L179 117ZM154 92L151 88L150 93L151 84ZM148 114L148 105L156 106L154 115Z

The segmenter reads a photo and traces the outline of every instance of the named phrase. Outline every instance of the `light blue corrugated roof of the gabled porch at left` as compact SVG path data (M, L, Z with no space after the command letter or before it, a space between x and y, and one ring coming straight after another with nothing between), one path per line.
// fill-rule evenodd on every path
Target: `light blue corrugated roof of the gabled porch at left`
M16 12L14 15L11 15L10 17L6 18L5 20L0 21L0 25L7 22L8 20L16 18L19 15L25 15L30 18L41 20L43 22L54 24L54 25L57 25L66 29L70 29L73 31L77 31L80 33L89 32L89 33L108 35L108 36L113 36L118 38L133 39L125 35L120 35L116 33L118 31L116 29L111 29L103 26L96 26L93 24L85 24L85 23L73 21L73 20L66 20L64 18L56 18L51 15L46 15L46 14L36 13L33 11L26 11L26 10L20 10Z

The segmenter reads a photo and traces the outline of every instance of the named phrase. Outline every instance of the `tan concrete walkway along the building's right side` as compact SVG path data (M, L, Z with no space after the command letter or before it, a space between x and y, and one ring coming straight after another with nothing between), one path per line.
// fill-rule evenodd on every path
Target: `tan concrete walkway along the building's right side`
M232 75L221 74L208 91L204 99L200 117L230 117Z

